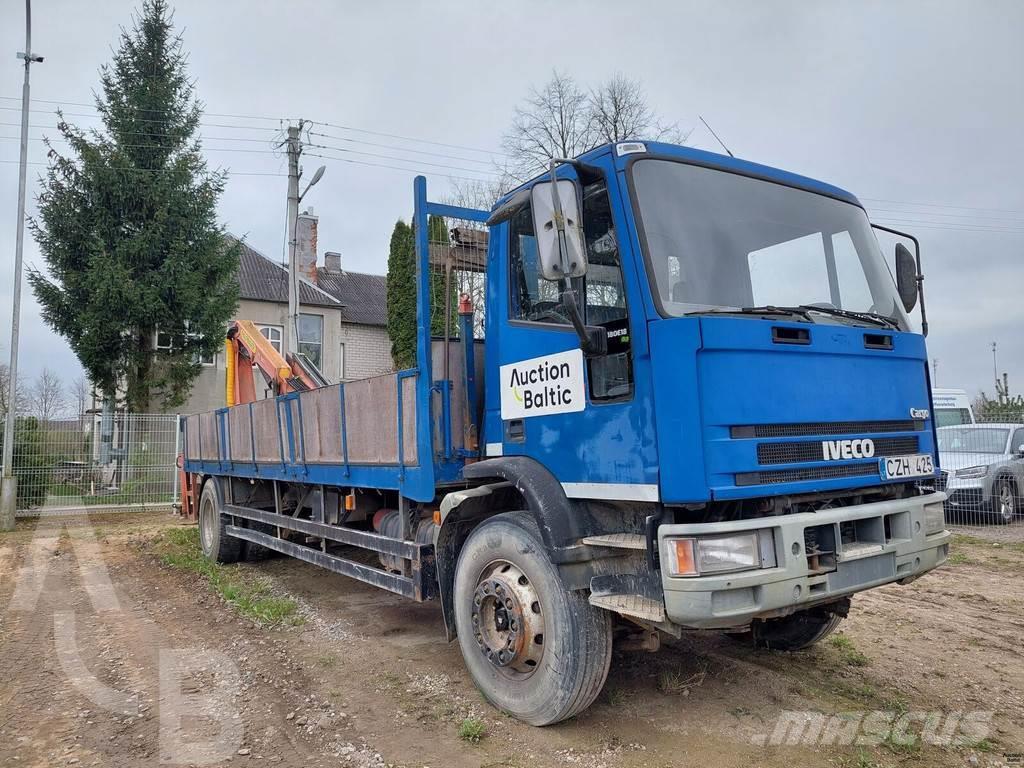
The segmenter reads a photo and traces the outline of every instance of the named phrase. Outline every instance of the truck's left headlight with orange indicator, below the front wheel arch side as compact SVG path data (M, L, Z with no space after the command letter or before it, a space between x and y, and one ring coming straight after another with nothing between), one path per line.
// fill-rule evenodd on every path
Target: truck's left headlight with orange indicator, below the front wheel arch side
M775 567L770 530L665 540L665 562L671 575L702 575Z

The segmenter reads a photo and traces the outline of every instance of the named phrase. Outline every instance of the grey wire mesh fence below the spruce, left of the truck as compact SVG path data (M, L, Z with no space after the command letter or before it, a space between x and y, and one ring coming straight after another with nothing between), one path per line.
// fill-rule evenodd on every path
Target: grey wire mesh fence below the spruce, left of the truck
M177 502L176 416L18 417L17 514L170 508Z

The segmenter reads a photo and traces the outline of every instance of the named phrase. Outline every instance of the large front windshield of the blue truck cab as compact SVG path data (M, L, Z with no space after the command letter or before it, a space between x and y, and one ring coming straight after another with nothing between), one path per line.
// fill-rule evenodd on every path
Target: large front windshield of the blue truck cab
M818 304L873 312L908 328L867 216L857 206L668 160L637 161L633 180L654 291L666 314Z

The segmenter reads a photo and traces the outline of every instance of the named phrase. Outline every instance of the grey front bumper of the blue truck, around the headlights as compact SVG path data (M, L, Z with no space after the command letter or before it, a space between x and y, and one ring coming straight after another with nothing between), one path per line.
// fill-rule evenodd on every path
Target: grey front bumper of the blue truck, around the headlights
M948 530L925 532L925 505L944 499L937 493L779 517L662 525L659 552L667 537L770 529L778 563L772 568L698 577L671 577L663 569L666 614L682 627L730 629L884 584L908 583L942 564L949 554ZM851 526L861 534L860 540L844 542L843 529ZM809 558L808 529L820 532L829 527L835 531L833 556Z

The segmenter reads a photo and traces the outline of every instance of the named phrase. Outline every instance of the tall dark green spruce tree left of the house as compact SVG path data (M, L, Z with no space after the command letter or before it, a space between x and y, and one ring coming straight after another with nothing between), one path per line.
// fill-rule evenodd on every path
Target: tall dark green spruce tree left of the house
M216 219L226 174L211 172L165 0L143 0L100 71L102 130L57 125L32 222L49 274L29 281L47 324L90 381L131 411L187 397L238 304L239 246ZM157 332L170 348L157 349ZM162 345L164 346L164 345Z

